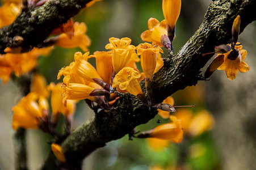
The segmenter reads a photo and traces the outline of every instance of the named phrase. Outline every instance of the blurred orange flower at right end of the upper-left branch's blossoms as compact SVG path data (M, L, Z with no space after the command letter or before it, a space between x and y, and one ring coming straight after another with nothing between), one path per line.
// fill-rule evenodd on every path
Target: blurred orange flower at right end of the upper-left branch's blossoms
M66 33L62 33L54 45L61 46L62 48L75 48L79 47L86 52L88 50L87 46L91 44L91 40L85 34L87 27L85 23L74 23L74 36L71 38Z

